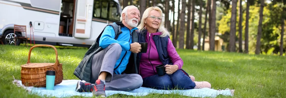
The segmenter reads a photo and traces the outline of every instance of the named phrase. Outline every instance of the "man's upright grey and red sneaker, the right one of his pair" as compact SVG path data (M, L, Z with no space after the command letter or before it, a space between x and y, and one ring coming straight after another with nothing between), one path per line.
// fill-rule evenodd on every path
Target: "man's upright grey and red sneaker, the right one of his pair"
M92 95L97 97L106 97L104 82L99 79L96 80L94 86L92 87Z

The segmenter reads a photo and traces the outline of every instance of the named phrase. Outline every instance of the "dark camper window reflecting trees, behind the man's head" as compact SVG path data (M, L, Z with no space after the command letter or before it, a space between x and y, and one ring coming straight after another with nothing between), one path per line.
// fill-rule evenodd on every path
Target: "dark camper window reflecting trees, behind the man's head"
M113 1L94 1L94 17L109 21L120 21L118 5Z

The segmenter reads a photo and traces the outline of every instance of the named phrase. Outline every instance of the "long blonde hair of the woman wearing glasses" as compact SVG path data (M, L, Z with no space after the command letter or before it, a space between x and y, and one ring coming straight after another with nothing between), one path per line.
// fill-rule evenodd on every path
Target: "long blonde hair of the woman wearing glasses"
M149 16L150 11L152 11L152 10L156 10L156 11L160 12L160 15L161 15L161 16L162 16L162 14L163 14L162 9L160 9L159 7L154 6L154 7L149 7L149 8L147 8L147 9L144 11L143 15L142 15L141 23L140 23L139 26L137 27L138 30L139 30L139 32L141 32L141 31L143 31L143 30L146 29L145 26L144 26L144 25L145 25L144 21L145 21L146 18ZM164 27L164 24L163 24L163 23L164 23L164 22L161 20L161 23L159 24L159 28L158 28L158 32L162 32L162 34L160 35L160 37L170 36L170 33L169 33L169 32L167 31L167 29Z

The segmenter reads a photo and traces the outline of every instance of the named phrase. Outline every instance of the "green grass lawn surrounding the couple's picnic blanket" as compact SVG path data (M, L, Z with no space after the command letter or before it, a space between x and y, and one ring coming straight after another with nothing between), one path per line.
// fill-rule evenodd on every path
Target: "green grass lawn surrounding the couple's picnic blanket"
M0 46L0 97L39 97L12 84L13 76L20 80L21 65L27 62L29 47ZM74 69L87 48L57 47L59 62L63 63L64 80L78 79ZM212 51L177 49L184 61L183 69L196 81L208 81L212 89L235 89L234 97L285 97L286 58L273 55L247 55ZM52 48L34 48L31 62L55 62ZM80 97L80 96L74 96ZM110 97L134 97L112 95ZM149 94L144 97L187 97L178 94ZM218 96L228 98L231 96Z

